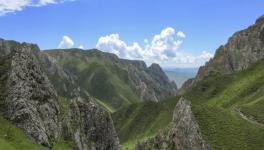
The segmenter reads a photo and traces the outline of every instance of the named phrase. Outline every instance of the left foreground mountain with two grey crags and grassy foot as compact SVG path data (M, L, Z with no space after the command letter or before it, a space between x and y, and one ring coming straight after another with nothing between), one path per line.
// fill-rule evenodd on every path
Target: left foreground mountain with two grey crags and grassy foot
M92 98L58 96L37 45L1 39L0 57L3 148L120 149L110 114Z

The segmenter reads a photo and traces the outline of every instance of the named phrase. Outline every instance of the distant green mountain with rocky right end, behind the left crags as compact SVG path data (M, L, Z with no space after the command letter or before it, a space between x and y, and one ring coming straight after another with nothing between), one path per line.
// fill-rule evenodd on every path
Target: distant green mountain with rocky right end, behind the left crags
M134 102L161 101L177 93L158 64L119 59L96 49L46 50L42 53L46 72L66 97L92 96L113 112Z

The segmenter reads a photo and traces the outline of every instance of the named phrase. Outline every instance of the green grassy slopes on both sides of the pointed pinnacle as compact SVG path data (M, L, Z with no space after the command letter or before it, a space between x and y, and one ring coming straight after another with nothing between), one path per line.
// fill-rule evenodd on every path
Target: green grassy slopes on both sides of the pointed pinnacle
M264 147L263 90L264 61L260 61L253 67L232 75L211 74L182 96L192 102L192 110L201 133L213 149L258 150ZM155 134L161 126L164 128L172 118L178 98L164 101L162 105L138 104L116 112L113 118L124 149L131 149L137 140ZM165 109L162 106L169 107ZM155 113L146 113L146 110L153 110ZM159 118L160 114L165 117L161 117L158 123L154 119L148 119ZM134 116L137 119L133 119ZM135 126L134 124L140 124L138 120L148 120L148 124ZM151 134L148 130L142 130L153 124L160 126L157 125ZM134 136L134 132L142 136Z

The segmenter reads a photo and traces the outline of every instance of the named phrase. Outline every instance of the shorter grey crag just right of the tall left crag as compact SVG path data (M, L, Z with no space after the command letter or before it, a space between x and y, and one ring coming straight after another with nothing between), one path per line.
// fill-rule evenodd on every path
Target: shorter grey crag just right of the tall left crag
M72 99L63 137L79 150L119 150L119 140L108 112L82 98Z

